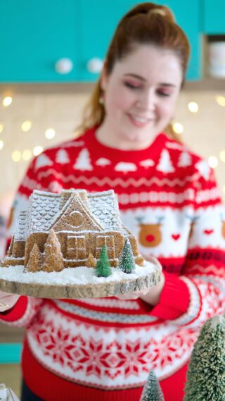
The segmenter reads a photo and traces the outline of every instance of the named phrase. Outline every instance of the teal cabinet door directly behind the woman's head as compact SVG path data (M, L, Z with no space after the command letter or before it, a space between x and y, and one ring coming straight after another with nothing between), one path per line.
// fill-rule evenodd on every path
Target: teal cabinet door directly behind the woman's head
M185 2L177 0L155 1L156 4L169 6L176 20L186 32L191 43L191 62L187 79L201 78L201 47L199 26L199 1ZM81 0L79 3L79 66L78 76L81 81L96 80L98 66L105 58L108 44L120 18L137 1L132 0ZM96 62L96 64L95 64ZM91 68L93 63L94 68ZM95 68L96 67L96 68ZM92 72L91 72L92 70Z

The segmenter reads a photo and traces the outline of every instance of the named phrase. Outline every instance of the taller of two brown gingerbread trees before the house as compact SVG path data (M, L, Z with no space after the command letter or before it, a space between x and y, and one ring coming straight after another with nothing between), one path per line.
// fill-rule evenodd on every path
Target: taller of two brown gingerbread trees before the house
M51 230L44 245L42 269L44 271L61 271L64 269L63 254L60 242L54 230Z

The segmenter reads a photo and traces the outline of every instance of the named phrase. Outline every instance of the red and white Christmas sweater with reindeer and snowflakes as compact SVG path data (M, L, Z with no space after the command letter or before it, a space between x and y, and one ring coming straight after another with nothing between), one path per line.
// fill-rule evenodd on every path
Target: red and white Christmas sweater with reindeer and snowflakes
M93 128L32 161L14 220L34 189L71 187L115 190L141 253L163 266L160 302L20 297L1 319L27 326L23 375L44 400L138 400L148 371L160 381L179 371L206 319L224 312L225 213L214 175L164 133L148 149L120 151Z

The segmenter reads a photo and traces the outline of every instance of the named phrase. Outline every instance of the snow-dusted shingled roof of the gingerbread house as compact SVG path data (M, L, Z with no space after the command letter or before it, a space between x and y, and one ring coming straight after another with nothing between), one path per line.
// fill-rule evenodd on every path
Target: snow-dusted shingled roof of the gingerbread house
M15 240L25 240L32 233L48 232L70 207L75 197L99 228L124 233L117 197L113 190L94 193L85 190L63 190L60 194L34 190L30 196L28 212L20 212Z

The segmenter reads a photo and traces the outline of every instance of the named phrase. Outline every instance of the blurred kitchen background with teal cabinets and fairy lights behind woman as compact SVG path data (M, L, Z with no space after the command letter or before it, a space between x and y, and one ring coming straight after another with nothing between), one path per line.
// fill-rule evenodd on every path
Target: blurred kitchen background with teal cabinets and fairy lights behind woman
M172 9L191 42L174 130L215 169L225 199L225 1L155 3ZM133 0L0 2L0 241L15 190L32 157L74 137L113 31L136 4ZM3 252L1 245L0 249ZM22 331L13 330L0 328L0 343L18 343ZM0 347L0 363L10 352L3 350L6 347ZM15 362L16 355L15 351L15 358L7 361ZM0 383L4 371L0 369ZM15 376L18 380L18 371Z

